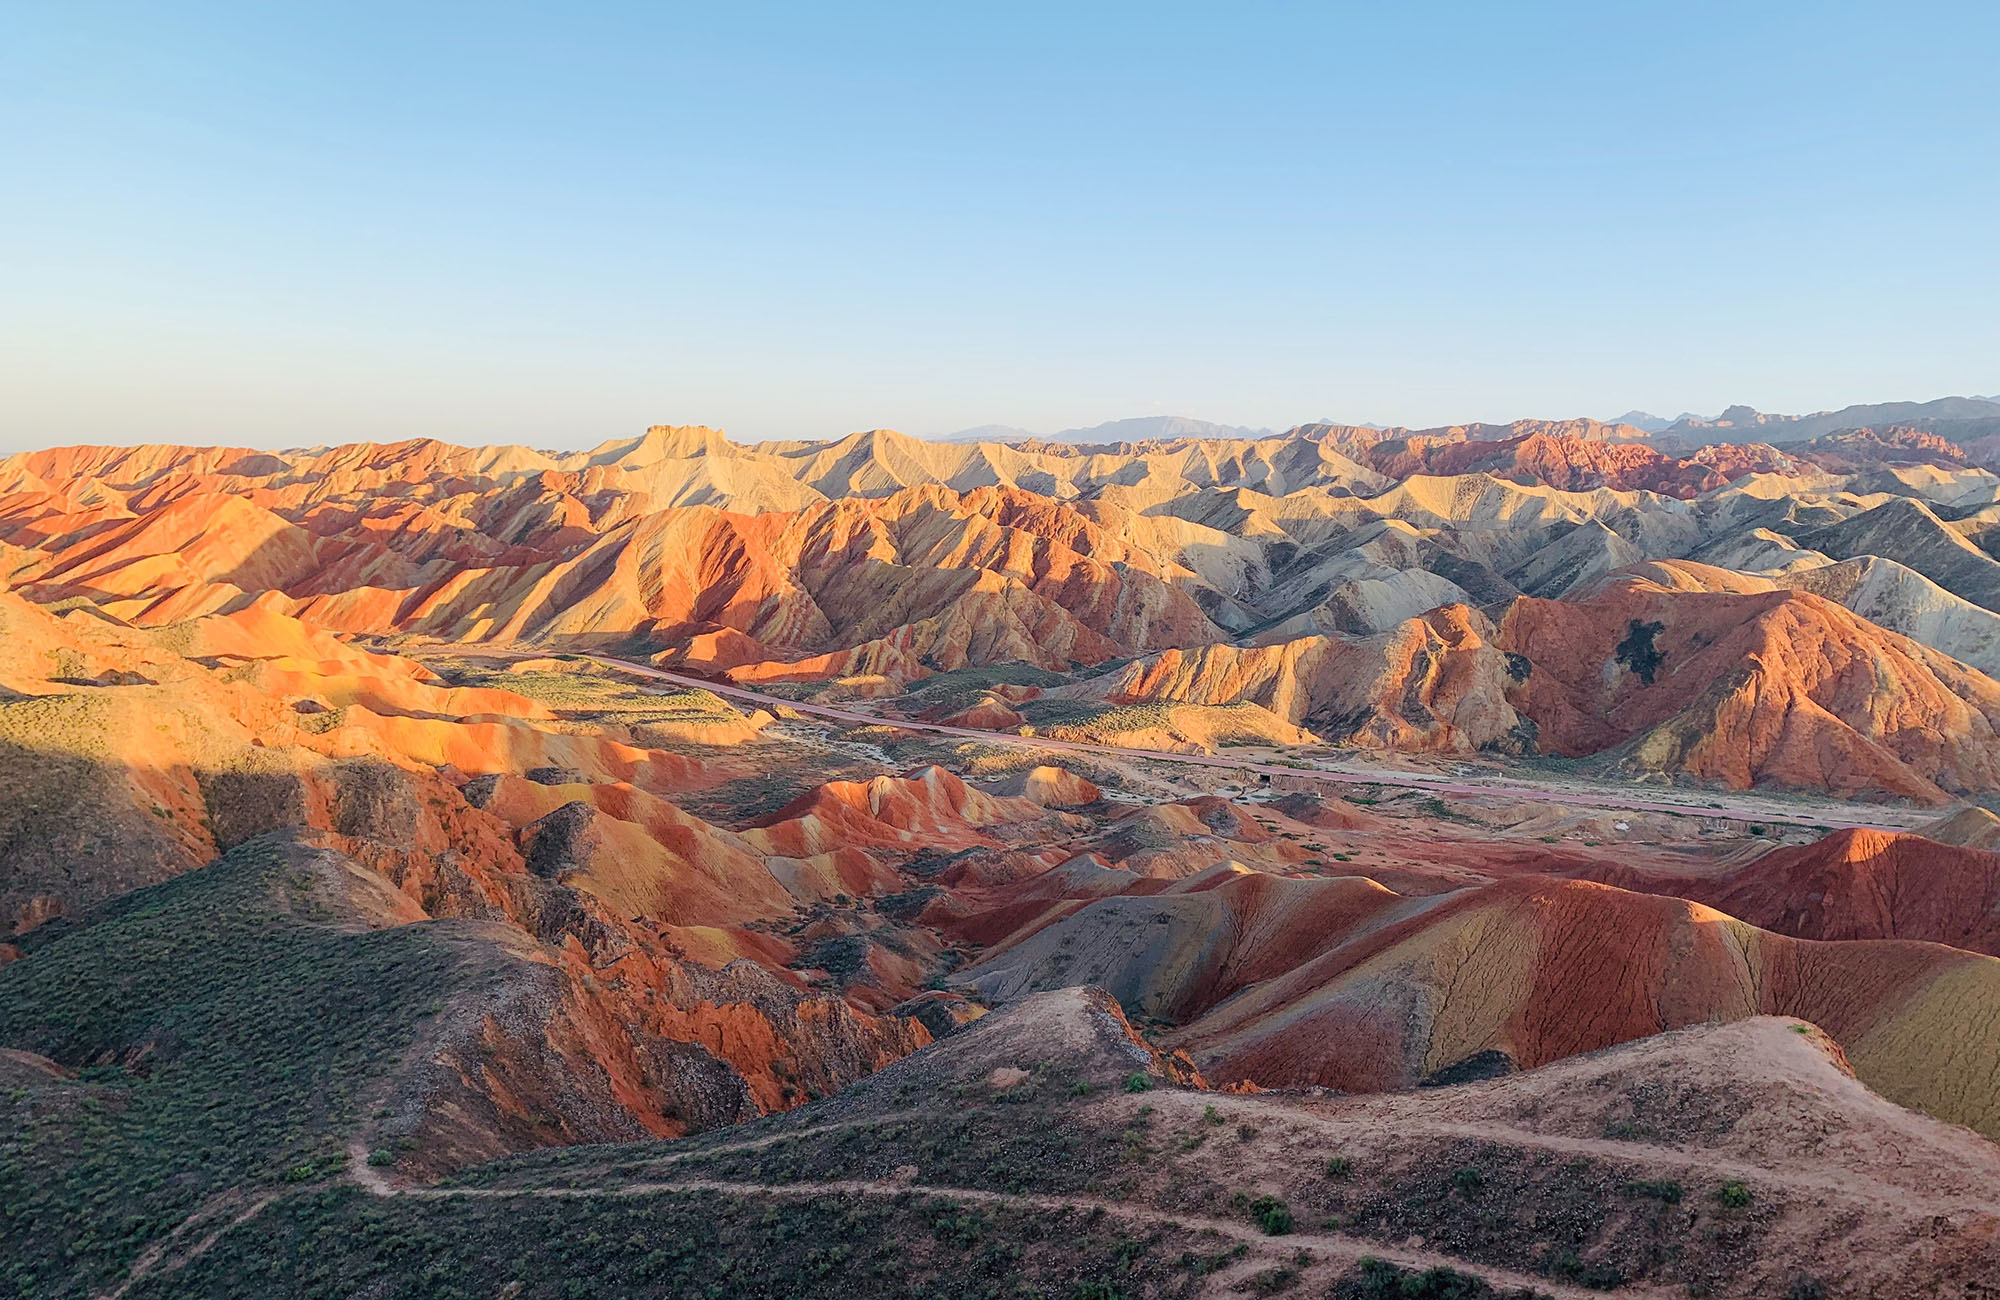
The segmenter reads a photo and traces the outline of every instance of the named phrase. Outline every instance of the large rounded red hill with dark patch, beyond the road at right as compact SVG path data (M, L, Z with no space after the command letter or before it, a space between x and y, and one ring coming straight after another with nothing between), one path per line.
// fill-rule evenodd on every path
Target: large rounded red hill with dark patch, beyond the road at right
M2000 784L2000 684L1806 592L1674 592L1642 578L1518 600L1508 702L1552 754L1746 788L1942 802Z

